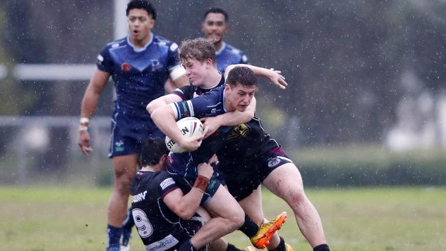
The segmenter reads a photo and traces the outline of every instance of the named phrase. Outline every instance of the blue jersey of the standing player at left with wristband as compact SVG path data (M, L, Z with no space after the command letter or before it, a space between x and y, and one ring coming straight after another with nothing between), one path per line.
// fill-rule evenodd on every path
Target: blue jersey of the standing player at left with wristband
M164 95L169 70L180 64L178 45L151 34L137 49L128 36L109 43L97 56L97 69L111 74L116 88L115 111L150 120L145 106Z

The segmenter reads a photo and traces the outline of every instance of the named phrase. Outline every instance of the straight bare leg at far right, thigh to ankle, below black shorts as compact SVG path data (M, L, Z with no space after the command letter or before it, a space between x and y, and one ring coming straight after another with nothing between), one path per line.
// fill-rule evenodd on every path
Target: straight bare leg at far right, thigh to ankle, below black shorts
M292 208L298 227L312 248L326 243L318 211L305 195L301 173L293 163L274 169L263 185Z

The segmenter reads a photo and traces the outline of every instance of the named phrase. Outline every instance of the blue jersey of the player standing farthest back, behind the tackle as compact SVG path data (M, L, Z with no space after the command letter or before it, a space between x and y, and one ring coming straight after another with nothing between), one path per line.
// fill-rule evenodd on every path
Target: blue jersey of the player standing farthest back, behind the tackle
M231 64L248 64L248 58L239 49L222 42L222 48L215 52L217 55L217 69L221 73Z

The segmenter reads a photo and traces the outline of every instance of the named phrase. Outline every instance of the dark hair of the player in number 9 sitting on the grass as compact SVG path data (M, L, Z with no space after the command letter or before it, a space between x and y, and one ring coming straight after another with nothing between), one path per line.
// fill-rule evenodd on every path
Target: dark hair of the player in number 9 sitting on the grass
M149 138L141 146L139 165L141 167L156 165L164 154L169 154L164 140L160 138Z

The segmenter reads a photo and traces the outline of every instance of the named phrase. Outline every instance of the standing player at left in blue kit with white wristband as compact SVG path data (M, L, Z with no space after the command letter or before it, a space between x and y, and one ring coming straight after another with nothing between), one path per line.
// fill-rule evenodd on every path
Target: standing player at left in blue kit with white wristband
M115 185L108 205L108 248L118 246L121 237L130 180L136 173L141 142L149 136L163 136L145 112L145 104L164 94L167 78L177 86L187 83L185 71L178 62L178 45L151 32L156 19L152 4L131 1L126 15L130 34L109 43L97 56L97 69L82 99L78 140L82 152L93 151L87 130L89 119L111 76L117 98L109 154L113 158Z

